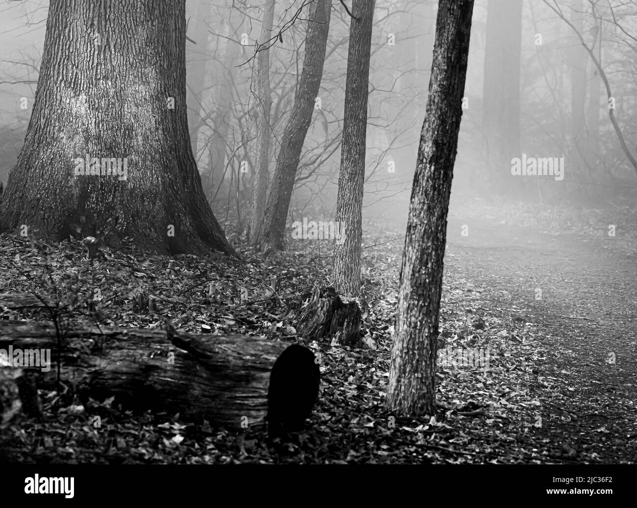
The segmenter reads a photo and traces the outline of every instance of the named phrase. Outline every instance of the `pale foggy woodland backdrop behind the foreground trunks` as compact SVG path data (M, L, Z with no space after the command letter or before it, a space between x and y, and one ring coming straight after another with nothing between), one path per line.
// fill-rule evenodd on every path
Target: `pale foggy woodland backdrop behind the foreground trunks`
M306 3L276 4L273 33L280 31L282 40L270 51L270 171L301 73ZM263 8L259 1L186 1L192 148L213 212L223 228L238 233L249 219L250 168L257 159L254 55ZM0 181L24 142L47 11L47 1L0 3ZM378 228L406 224L435 20L436 2L376 3L363 214L380 221ZM586 210L634 203L636 20L637 4L613 0L476 1L450 219L492 207L506 221L511 208L498 208L505 202L531 222L566 205ZM334 218L348 30L347 13L334 2L289 224ZM605 80L617 126L609 117ZM564 157L564 178L513 177L511 160L522 154Z

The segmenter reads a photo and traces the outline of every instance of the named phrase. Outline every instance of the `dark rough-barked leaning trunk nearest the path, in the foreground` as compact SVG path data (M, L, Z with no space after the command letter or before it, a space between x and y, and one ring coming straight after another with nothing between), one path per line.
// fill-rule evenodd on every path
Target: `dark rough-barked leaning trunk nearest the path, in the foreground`
M440 0L427 113L404 243L387 409L434 414L447 213L469 55L473 0Z

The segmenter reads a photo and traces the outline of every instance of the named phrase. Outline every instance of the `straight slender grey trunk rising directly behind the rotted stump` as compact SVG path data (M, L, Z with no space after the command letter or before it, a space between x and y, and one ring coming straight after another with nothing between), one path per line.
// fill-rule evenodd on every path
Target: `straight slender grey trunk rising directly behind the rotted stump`
M362 190L365 178L369 57L375 0L354 0L347 53L345 115L338 177L336 221L345 224L345 241L334 245L334 287L355 296L361 289Z

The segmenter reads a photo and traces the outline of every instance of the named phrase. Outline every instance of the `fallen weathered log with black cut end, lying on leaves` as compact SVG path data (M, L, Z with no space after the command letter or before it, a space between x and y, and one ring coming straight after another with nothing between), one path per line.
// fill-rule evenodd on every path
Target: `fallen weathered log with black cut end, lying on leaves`
M54 386L59 366L63 381L85 379L83 398L115 396L129 409L179 412L187 419L204 418L233 429L264 420L270 372L289 345L245 335L96 326L62 329L58 337L52 323L0 321L0 349L50 350L50 370L37 370L38 386ZM295 368L316 369L313 358L311 352L303 355L297 359L302 365ZM306 408L308 401L286 398L312 393L313 386L285 391L285 386L311 384L296 379L294 372L283 369L284 379L278 383L283 391L271 398L283 399L291 412L286 417L296 421L306 415L294 408Z

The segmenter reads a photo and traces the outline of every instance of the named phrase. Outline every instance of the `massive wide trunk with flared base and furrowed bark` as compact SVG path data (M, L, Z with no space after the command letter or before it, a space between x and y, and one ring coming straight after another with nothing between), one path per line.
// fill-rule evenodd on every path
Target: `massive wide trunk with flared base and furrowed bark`
M57 0L0 231L102 231L162 253L233 253L201 187L185 89L183 0Z

